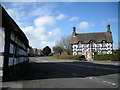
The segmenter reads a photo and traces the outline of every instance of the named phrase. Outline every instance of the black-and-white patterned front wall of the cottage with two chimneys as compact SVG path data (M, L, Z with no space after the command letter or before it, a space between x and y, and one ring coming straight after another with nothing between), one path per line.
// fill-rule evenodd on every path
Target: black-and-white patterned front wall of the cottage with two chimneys
M89 47L90 44L73 44L72 45L72 52L73 55L84 54L84 51L91 51ZM112 54L112 43L105 43L105 48L103 47L102 43L93 43L92 48L93 54L96 52L97 54Z

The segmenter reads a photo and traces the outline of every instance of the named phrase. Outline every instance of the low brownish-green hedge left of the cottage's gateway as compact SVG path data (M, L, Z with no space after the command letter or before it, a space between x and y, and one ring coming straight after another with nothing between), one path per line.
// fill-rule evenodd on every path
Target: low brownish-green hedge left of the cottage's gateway
M53 58L58 59L73 59L73 60L85 60L83 55L54 55Z

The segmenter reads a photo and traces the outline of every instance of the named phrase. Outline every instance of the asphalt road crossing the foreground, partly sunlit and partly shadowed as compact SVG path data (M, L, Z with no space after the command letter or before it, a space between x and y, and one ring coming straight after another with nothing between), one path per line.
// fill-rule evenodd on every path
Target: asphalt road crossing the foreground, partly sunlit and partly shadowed
M9 85L18 88L118 88L118 69L119 66L110 64L31 57L24 80Z

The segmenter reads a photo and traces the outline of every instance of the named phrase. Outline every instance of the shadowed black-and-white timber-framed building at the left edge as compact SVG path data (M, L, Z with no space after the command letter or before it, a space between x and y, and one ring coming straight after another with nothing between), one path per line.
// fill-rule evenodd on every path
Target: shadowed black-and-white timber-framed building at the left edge
M19 72L25 62L28 62L28 39L0 5L2 25L0 26L0 76L6 81Z

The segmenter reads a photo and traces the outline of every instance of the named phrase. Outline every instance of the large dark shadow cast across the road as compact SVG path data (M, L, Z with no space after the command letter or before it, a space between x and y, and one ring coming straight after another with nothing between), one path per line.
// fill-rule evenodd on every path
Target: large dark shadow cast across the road
M79 65L79 66L78 66ZM82 66L81 66L82 65ZM92 67L86 67L92 66ZM101 69L93 67L111 68ZM36 80L48 78L85 78L89 76L103 76L109 74L118 74L118 66L103 65L90 62L47 62L35 63L30 62L27 71L20 80Z

